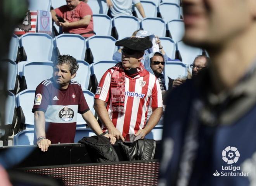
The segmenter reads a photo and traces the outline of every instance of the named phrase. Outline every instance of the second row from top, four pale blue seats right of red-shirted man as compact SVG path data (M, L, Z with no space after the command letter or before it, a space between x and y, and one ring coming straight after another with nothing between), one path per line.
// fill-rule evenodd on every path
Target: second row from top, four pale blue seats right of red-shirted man
M58 33L62 33L61 28L55 27ZM121 15L111 19L104 14L93 14L93 27L96 35L113 36L116 39L130 37L134 31L143 29L158 37L168 36L175 42L182 39L185 30L183 20L178 18L165 22L159 17L139 20L134 16Z

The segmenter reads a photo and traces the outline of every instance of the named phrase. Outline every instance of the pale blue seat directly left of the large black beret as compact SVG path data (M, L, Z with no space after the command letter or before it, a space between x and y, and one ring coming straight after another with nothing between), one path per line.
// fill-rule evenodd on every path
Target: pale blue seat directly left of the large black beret
M92 36L88 38L87 48L90 48L92 52L93 62L112 60L112 56L117 50L115 43L116 39L112 36Z

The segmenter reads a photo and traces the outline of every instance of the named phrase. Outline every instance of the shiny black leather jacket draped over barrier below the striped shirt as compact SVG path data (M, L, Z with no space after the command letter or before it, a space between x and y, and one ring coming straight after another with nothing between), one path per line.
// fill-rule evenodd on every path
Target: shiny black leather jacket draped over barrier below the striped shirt
M155 155L156 141L140 139L133 143L118 142L128 160L152 160Z

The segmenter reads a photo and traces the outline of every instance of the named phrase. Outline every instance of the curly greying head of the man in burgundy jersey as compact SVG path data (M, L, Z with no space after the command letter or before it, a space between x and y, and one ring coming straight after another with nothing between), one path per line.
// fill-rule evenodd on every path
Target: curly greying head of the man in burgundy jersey
M78 63L75 58L69 55L61 55L57 61L54 61L54 69L52 77L56 84L60 87L65 87L69 84L70 80L76 77L78 70Z

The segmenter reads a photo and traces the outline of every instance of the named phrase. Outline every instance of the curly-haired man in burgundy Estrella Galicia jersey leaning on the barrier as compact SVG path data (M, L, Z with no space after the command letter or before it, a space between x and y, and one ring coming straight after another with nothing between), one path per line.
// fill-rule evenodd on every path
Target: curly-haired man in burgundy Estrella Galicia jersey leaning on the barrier
M104 135L86 103L81 85L71 80L78 67L72 56L59 56L54 62L52 78L36 87L32 109L35 113L34 143L42 151L47 151L51 143L74 143L78 113L95 134ZM104 136L110 138L112 144L116 141L112 135Z

